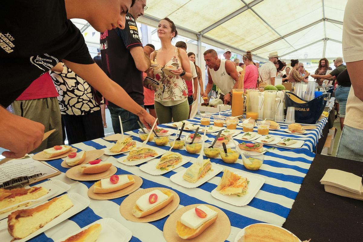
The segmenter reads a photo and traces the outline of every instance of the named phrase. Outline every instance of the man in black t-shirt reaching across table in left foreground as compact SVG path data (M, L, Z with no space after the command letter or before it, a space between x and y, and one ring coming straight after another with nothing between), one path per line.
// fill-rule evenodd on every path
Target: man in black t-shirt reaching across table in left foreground
M19 158L38 147L44 126L5 110L34 79L62 60L108 100L139 116L146 125L155 118L93 62L79 29L69 20L83 18L99 32L125 28L135 0L12 0L0 9L0 147ZM97 13L94 9L97 7ZM24 23L26 26L24 26Z

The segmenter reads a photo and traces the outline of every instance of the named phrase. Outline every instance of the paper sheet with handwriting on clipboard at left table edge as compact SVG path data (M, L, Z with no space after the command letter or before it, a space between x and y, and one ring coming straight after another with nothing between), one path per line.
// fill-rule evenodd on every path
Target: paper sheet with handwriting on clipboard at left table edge
M39 180L42 177L49 177L57 172L56 169L32 158L10 160L0 165L0 182L2 183L19 176L32 176L43 173L44 175L38 177Z

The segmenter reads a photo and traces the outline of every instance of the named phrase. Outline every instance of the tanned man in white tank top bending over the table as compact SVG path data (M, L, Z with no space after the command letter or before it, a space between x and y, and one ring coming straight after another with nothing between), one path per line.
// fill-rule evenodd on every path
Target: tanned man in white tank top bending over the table
M213 49L204 52L204 60L208 65L208 84L203 98L208 98L214 83L220 90L220 99L224 101L224 104L232 105L232 89L238 86L236 65L232 61L219 59L217 52ZM204 102L206 103L207 99Z

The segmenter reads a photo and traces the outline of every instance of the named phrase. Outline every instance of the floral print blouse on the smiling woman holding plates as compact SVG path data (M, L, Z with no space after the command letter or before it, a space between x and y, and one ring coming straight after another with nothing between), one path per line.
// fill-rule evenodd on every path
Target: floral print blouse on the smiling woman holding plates
M155 53L155 60L156 60ZM175 48L175 54L171 58L170 61L166 63L165 66L175 66L175 68L179 67L179 58L177 57L177 48ZM188 63L189 64L189 63ZM181 101L184 101L188 97L188 88L185 84L183 78L179 75L167 75L162 70L164 66L156 66L154 68L155 80L159 82L159 86L155 91L155 101L160 103L170 101L179 101L176 104L179 104ZM174 104L172 104L174 105ZM167 105L169 106L169 105Z

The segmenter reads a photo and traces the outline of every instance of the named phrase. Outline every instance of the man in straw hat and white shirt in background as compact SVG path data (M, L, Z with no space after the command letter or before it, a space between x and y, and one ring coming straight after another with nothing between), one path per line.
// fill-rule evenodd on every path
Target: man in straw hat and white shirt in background
M276 64L278 60L277 51L269 54L268 62L264 63L258 69L258 86L265 87L267 85L275 85L275 77L277 73Z

